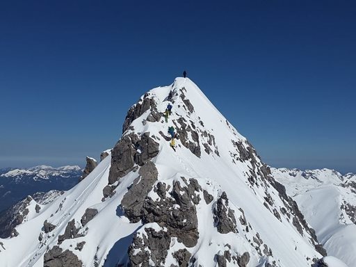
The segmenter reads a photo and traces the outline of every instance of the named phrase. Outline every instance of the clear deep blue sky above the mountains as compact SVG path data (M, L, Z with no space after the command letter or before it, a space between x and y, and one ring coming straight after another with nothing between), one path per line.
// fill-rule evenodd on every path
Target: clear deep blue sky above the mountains
M85 165L186 69L276 167L356 172L354 1L1 1L0 168Z

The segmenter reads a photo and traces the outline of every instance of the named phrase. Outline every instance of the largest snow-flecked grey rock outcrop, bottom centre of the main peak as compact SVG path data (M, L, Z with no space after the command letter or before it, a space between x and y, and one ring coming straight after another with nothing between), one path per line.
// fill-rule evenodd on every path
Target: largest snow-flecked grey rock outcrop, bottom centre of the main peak
M147 163L143 167L146 165ZM155 173L154 177L156 177ZM143 179L142 177L140 183L144 182ZM189 182L184 177L181 177L181 179L186 186L181 186L180 181L174 181L172 187L158 182L153 190L159 195L160 200L152 200L151 197L147 196L148 192L142 192L143 187L140 187L138 191L143 197L136 195L136 193L130 194L129 204L133 209L124 208L125 215L128 216L130 221L143 220L144 224L157 223L162 229L157 232L147 227L145 232L136 234L129 250L132 266L140 266L140 264L148 266L150 260L154 261L156 266L163 266L172 237L177 237L177 241L183 243L187 248L192 248L197 244L199 233L197 231L195 205L200 202L199 192L202 191L202 188L196 179L190 179ZM151 182L155 180L152 179ZM136 187L139 185L134 183L129 191L137 191ZM152 188L152 185L150 188ZM134 199L138 200L137 202L132 202L133 196L135 196ZM149 248L149 251L145 248ZM136 252L133 253L133 251ZM177 259L179 266L188 266L191 254L187 250L179 250L173 254L173 257Z

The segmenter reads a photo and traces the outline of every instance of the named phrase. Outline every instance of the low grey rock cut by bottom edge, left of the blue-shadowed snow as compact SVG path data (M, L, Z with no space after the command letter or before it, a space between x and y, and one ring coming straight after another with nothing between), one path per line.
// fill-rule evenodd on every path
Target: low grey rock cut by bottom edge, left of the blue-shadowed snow
M83 263L70 250L63 252L62 248L55 245L44 254L44 267L81 267Z

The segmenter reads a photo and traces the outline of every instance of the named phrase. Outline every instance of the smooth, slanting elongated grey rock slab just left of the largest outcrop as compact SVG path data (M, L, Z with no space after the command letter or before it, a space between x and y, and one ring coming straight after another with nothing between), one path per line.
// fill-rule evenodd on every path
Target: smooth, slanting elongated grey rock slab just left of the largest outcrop
M148 161L138 170L140 177L133 181L129 191L121 201L121 207L125 215L132 223L137 223L141 218L143 203L149 191L152 190L159 172L152 161Z

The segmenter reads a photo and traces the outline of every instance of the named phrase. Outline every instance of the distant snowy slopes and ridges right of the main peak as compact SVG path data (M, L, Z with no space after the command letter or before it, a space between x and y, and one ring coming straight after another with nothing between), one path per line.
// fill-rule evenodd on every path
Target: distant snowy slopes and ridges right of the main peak
M327 254L356 266L356 175L328 169L271 171L293 195Z

